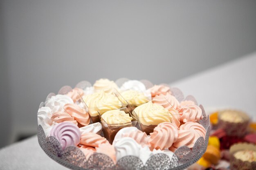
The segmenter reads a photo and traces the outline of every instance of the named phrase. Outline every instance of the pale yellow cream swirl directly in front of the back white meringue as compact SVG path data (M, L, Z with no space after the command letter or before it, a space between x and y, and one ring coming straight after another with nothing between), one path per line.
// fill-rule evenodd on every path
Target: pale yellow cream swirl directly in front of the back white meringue
M149 98L144 95L144 93L140 91L128 90L121 92L121 96L125 99L125 101L121 101L123 103L128 102L128 104L139 106L149 101Z

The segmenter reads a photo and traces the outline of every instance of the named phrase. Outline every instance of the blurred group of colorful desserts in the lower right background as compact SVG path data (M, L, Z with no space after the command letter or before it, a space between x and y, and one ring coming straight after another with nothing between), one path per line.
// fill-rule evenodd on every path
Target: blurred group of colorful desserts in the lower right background
M241 110L208 108L207 150L187 170L256 170L256 122Z

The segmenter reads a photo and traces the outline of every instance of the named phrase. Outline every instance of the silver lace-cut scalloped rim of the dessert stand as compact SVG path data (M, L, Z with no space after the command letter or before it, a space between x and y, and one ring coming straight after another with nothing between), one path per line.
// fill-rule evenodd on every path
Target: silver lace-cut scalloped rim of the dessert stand
M129 79L126 78L117 79L115 84L120 87L128 80ZM141 80L140 82L143 83L147 89L153 87L153 84L148 80ZM164 85L168 86L167 84ZM85 89L91 86L90 82L82 81L76 85L76 88ZM183 93L178 88L170 89L171 94L175 96L179 102L193 101L195 105L198 105L193 96L189 95L184 97ZM58 94L65 95L70 91L72 91L72 87L63 86ZM55 94L49 93L46 100L52 96L55 96ZM44 106L45 102L41 102L39 108ZM84 153L77 146L68 146L63 149L58 139L54 136L45 135L47 133L39 123L37 132L38 143L50 158L73 170L183 170L198 161L207 149L210 121L203 106L199 105L199 107L202 110L202 116L198 123L205 128L205 137L199 137L192 148L187 146L177 148L173 151L172 157L162 152L154 154L146 161L142 161L139 157L135 156L125 156L115 162L108 157L108 155L96 152L86 159Z

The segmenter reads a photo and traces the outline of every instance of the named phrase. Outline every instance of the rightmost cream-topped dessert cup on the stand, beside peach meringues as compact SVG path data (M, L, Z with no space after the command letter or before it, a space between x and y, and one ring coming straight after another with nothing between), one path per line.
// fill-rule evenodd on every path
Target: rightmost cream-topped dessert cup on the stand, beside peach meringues
M135 108L132 115L135 115L138 120L141 131L149 135L162 122L175 124L175 115L179 115L179 113L175 110L169 111L163 106L153 104L152 101L149 101Z

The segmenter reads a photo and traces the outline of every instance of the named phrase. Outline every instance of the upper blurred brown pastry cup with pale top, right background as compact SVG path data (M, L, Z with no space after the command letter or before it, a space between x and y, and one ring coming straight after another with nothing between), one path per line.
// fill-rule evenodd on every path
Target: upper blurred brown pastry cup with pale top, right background
M249 120L249 116L242 111L222 110L218 113L218 128L224 129L228 136L243 137Z

